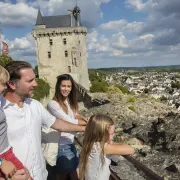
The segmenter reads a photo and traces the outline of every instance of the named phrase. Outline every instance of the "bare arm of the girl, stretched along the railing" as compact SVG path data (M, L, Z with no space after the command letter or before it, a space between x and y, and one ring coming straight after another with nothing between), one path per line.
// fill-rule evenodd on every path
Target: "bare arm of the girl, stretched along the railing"
M105 144L104 146L104 153L111 154L111 155L131 155L134 154L135 150L133 147L127 144Z

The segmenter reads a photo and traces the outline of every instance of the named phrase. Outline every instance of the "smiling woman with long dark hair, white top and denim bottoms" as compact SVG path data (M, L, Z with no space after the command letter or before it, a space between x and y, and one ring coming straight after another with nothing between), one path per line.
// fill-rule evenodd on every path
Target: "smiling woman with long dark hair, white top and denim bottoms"
M77 114L78 102L73 78L69 74L57 77L55 95L47 106L49 112L58 119L73 124L86 125L85 118ZM78 180L79 157L74 145L75 133L61 133L59 139L58 156L55 168L56 179L68 178Z

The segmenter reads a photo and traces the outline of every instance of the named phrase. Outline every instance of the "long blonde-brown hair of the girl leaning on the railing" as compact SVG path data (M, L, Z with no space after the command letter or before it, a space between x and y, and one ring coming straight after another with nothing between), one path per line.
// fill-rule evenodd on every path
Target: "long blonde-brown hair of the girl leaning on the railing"
M114 125L113 120L106 115L93 115L90 117L84 134L83 147L80 155L80 180L84 180L88 158L93 144L100 143L101 162L104 164L104 145L109 140L109 127Z

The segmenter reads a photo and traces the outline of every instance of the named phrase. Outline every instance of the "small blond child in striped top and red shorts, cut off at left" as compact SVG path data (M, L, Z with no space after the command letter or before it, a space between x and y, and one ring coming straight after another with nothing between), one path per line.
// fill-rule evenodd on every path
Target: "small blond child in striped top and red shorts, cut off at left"
M0 66L0 96L3 94L8 80L9 73ZM0 105L0 180L11 178L19 169L24 169L24 166L16 158L8 142L6 117Z

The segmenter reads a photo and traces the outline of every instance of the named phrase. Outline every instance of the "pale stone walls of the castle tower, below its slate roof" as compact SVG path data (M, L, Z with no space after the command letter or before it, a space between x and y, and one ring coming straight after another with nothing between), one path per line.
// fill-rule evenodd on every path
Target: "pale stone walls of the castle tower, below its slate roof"
M36 41L40 78L51 86L54 94L56 77L68 73L77 83L89 90L85 27L45 28L36 26L32 35ZM66 44L64 44L66 39ZM52 44L51 44L52 43ZM65 57L65 51L68 56ZM51 57L48 57L48 52Z

